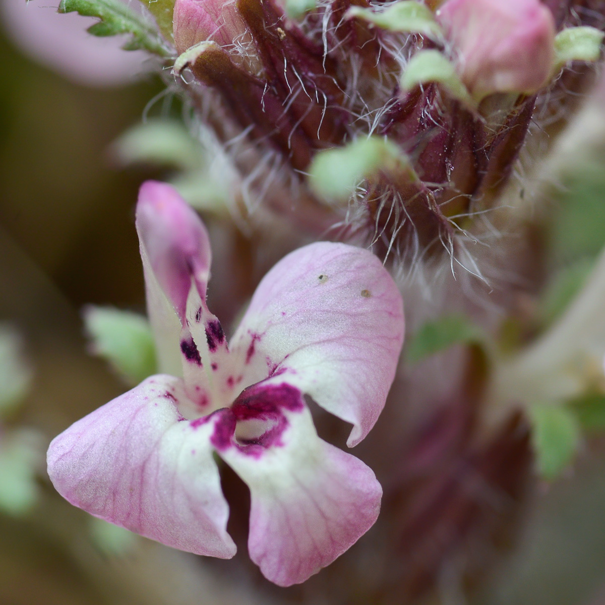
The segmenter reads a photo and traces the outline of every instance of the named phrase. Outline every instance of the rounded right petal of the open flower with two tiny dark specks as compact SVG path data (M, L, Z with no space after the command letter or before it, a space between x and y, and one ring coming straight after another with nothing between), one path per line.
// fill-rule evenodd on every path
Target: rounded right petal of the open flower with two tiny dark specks
M275 376L353 424L373 427L404 339L401 294L368 250L320 242L290 253L263 278L232 340L243 385Z

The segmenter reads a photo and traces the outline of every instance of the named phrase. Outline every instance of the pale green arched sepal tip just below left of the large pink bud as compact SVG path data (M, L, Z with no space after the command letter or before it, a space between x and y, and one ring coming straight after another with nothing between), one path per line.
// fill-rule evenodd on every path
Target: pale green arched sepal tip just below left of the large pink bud
M400 80L402 90L411 90L415 86L429 83L442 85L454 99L474 108L475 103L453 63L438 50L420 50L414 54Z

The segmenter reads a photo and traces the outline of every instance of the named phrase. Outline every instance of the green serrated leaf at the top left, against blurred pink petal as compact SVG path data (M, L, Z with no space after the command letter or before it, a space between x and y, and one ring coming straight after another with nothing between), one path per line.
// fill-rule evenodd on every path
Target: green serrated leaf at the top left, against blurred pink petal
M100 19L88 28L93 36L130 34L131 39L123 46L124 50L142 49L160 57L172 54L154 25L146 23L145 18L120 0L61 0L59 13L72 12Z

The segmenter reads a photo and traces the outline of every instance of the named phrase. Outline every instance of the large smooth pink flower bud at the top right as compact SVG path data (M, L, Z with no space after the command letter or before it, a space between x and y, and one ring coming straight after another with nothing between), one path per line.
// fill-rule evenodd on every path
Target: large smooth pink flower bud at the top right
M448 0L437 19L476 99L532 93L548 82L555 24L540 0Z

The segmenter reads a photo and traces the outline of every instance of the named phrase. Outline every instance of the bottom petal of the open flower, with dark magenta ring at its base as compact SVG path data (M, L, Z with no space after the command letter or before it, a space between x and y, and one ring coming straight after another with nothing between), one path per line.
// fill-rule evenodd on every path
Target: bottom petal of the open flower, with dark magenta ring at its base
M241 445L223 416L212 437L250 488L250 558L279 586L304 582L370 529L382 488L361 460L319 439L302 393L288 384L250 387L231 414L238 427L243 420L273 421L267 433Z

